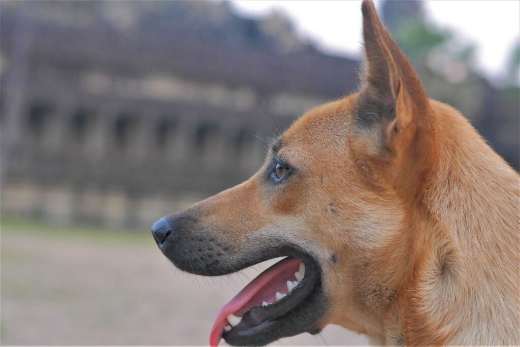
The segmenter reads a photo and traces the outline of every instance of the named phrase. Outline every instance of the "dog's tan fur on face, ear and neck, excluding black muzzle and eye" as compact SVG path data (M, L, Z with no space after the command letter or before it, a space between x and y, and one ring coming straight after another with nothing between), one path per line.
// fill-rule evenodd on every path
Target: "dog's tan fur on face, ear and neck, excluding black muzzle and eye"
M319 327L385 344L518 345L518 174L426 97L370 2L363 23L366 84L307 112L270 155L295 168L290 183L267 185L266 162L197 204L200 219L237 247L290 239L315 256L330 301ZM359 127L367 98L388 118Z

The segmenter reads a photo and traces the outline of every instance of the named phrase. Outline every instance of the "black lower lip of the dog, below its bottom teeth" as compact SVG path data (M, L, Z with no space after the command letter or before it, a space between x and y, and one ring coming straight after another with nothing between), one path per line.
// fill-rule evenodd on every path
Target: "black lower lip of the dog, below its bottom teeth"
M306 277L287 297L266 307L253 307L246 312L240 324L224 332L224 340L231 345L264 345L281 337L296 335L294 320L301 322L300 315L314 310L313 304L322 296L319 266L306 257ZM307 330L308 331L308 330ZM303 332L303 331L301 331ZM283 333L281 336L280 333Z

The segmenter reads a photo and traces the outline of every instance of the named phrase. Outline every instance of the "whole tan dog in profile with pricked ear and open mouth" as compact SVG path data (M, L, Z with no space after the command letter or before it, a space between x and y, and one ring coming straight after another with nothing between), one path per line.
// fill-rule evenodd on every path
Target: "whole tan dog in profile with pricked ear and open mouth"
M305 113L248 181L152 234L192 274L287 257L222 308L211 345L328 324L377 344L519 345L518 173L426 96L374 5L361 12L359 91Z

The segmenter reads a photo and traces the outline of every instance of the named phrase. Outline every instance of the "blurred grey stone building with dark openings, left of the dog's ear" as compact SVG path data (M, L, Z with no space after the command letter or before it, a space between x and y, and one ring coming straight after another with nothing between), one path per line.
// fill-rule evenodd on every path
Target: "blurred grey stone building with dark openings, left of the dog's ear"
M249 177L356 87L283 16L213 2L2 2L2 211L148 227Z

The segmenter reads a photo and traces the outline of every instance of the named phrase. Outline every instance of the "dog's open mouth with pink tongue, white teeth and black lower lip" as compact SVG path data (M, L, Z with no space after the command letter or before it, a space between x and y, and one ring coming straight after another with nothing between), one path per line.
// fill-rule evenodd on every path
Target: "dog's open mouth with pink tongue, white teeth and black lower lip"
M306 306L313 305L319 287L320 275L313 260L284 258L222 307L211 329L210 344L217 346L222 338L233 345L269 342L273 329L290 325L291 316L309 310Z

